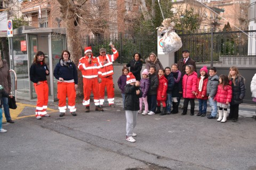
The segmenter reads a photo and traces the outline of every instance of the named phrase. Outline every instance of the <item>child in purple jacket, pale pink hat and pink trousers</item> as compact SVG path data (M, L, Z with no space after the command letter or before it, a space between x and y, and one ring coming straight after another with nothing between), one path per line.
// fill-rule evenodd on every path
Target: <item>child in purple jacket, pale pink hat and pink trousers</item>
M142 79L140 80L140 88L142 91L142 97L140 98L140 110L138 113L142 113L142 102L144 102L145 110L142 115L148 114L148 90L149 90L149 78L148 78L148 70L145 69L142 72Z

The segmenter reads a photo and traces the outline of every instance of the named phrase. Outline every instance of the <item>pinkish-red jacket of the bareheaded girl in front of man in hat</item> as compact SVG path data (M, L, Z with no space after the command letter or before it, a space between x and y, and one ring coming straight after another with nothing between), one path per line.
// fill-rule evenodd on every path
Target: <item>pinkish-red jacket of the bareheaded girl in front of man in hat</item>
M196 96L192 91L196 92L197 73L193 72L190 75L185 74L182 79L183 98L194 99Z

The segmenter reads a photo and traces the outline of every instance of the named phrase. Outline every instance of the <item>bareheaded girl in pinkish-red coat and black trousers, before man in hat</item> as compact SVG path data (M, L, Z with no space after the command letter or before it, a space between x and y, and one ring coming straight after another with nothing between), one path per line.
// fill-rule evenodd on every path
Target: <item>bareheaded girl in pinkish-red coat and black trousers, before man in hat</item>
M194 71L193 65L186 66L186 74L182 79L182 89L183 89L183 112L181 115L186 115L188 111L188 103L190 101L190 115L194 115L195 111L195 98L196 98L196 83L197 83L197 73Z

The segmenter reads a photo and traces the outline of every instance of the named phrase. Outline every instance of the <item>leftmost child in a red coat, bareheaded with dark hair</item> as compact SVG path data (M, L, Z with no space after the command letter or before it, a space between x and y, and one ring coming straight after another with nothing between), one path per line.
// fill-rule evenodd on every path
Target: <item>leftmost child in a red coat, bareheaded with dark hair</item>
M158 70L158 88L157 88L157 111L156 113L161 113L161 102L163 104L163 113L160 115L166 115L166 96L167 96L167 86L168 86L168 81L164 76L164 69L159 69Z

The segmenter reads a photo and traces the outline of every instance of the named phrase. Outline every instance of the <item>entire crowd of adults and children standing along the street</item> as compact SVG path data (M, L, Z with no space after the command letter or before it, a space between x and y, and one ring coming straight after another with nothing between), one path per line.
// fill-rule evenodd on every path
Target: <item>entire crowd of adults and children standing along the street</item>
M93 92L95 111L104 111L102 106L105 98L105 88L107 88L108 105L115 107L113 62L118 58L118 52L114 45L110 45L110 47L113 51L112 55L106 54L106 49L101 48L98 57L93 56L91 47L85 47L85 55L79 60L78 69L82 72L83 76L83 105L85 106L85 112L90 112L91 92ZM143 61L139 53L135 53L133 59L124 65L122 75L119 77L117 83L121 90L123 110L125 110L126 115L127 141L135 142L133 137L137 134L133 132L133 129L137 124L138 113L142 115L177 114L179 113L178 108L181 97L184 98L181 115L187 114L189 103L190 115L194 115L195 99L198 99L199 111L196 114L197 116L207 116L207 118L213 119L217 117L217 113L219 112L218 122L225 123L227 120L232 120L233 122L238 121L239 104L243 103L245 96L245 80L239 74L237 67L230 67L228 75L218 76L215 67L210 67L208 70L206 66L203 66L199 74L197 74L196 64L189 57L189 50L183 50L182 56L183 58L177 64L174 63L171 67L167 66L163 68L156 54L150 53L145 60L146 69L142 73ZM10 95L11 84L8 83L9 81L6 81L6 79L10 79L9 68L5 64L5 61L2 61L0 58L0 71L3 73L0 77L1 83L3 84L3 87L0 86L0 115L2 115L3 104L4 112L7 114L5 115L7 122L14 123L11 120L10 112L8 112L9 107L5 107L6 99L12 97ZM34 83L37 94L35 116L38 120L42 117L50 117L46 112L49 91L46 76L49 73L49 69L45 63L44 53L41 51L37 52L29 70L29 77ZM68 50L63 50L61 58L55 66L53 75L58 80L57 97L59 99L59 116L64 116L67 108L71 115L76 116L77 66L70 60ZM254 77L256 77L256 74ZM251 89L254 87L251 87ZM6 94L6 91L7 94L9 92L9 95ZM67 97L68 104L66 103ZM254 98L256 98L255 89ZM211 106L211 113L209 115L206 115L207 100ZM230 105L229 114L227 111L228 105ZM2 123L1 117L0 122ZM0 124L0 131L5 132L6 130L3 130L1 126Z

